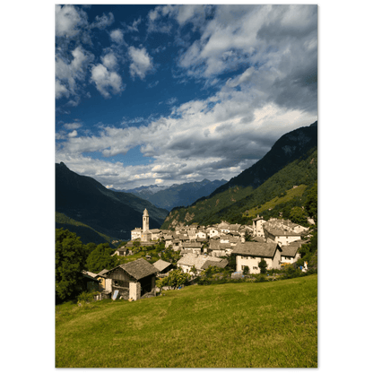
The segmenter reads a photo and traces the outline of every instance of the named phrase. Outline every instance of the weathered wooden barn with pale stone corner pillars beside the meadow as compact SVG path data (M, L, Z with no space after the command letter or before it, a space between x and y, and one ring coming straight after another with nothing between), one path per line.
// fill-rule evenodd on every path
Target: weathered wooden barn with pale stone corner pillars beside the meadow
M105 273L106 289L119 291L123 299L140 299L155 296L155 276L157 268L140 258L126 265L118 265Z

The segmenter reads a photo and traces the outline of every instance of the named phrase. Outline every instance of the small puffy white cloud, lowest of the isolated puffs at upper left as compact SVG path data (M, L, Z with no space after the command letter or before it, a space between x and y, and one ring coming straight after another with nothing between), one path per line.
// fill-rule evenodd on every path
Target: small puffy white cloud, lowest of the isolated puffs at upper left
M115 94L124 90L122 78L116 72L108 71L104 65L95 65L91 70L91 82L96 84L96 88L106 99L110 97L108 88Z

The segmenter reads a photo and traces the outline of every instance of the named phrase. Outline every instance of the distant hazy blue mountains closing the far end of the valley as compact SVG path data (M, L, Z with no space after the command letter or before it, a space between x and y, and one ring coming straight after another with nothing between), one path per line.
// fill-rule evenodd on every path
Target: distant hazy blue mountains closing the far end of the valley
M157 207L172 210L176 206L193 204L197 199L210 195L226 182L227 180L224 179L210 181L205 178L199 182L174 184L173 186L140 186L124 190L124 192L139 195Z

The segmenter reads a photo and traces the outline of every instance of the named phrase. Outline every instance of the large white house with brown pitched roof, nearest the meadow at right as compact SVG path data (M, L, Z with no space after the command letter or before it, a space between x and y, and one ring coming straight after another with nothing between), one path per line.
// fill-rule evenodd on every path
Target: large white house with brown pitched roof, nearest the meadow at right
M247 266L250 273L260 273L259 262L262 259L265 259L267 269L280 268L282 247L273 242L240 242L232 254L236 255L236 271L243 271Z

